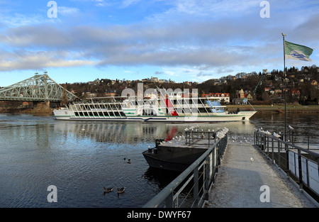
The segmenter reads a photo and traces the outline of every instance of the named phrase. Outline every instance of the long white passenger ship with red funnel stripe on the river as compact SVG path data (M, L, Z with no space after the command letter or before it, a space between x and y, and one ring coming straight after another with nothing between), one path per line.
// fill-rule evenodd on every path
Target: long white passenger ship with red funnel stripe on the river
M145 122L225 122L248 121L257 111L229 112L226 106L208 98L151 95L92 98L54 109L58 120L69 121L145 121Z

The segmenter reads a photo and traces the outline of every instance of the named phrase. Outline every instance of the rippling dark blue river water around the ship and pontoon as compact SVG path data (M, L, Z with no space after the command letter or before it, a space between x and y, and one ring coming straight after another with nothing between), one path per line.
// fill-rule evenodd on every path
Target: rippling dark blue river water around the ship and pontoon
M318 113L287 115L287 126L318 135ZM227 127L230 140L245 138L252 143L254 128L283 133L284 114L257 113L246 122L196 124L204 130ZM184 128L192 125L0 114L0 207L141 207L178 175L150 168L142 151L172 129L184 135ZM317 137L314 140L318 142ZM57 202L47 201L50 185L57 187ZM102 187L125 187L125 192L103 194Z

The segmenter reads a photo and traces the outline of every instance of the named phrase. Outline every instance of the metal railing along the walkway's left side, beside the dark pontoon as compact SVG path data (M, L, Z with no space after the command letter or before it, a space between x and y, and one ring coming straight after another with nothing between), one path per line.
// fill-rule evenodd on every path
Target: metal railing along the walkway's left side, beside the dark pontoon
M202 133L202 132L201 132ZM208 132L203 134L208 135ZM211 135L211 132L209 133ZM214 143L211 143L213 142ZM218 172L218 165L223 157L227 145L227 133L223 138L216 138L210 140L211 145L208 146L206 152L201 155L195 162L193 162L184 172L171 183L164 187L161 192L154 196L147 202L144 208L156 207L201 207L208 201L208 189L214 181L216 172ZM187 148L187 147L186 147ZM193 182L193 183L191 183ZM186 196L180 200L179 196L186 186L192 185L191 189L187 189ZM193 194L192 197L189 195ZM185 201L187 198L190 201ZM189 206L185 206L189 205Z

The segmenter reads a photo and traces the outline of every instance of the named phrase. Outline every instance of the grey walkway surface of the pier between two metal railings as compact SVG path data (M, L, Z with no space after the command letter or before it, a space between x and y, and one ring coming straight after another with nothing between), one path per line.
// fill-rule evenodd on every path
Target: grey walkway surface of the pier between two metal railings
M250 157L254 160L251 161ZM269 187L269 202L265 190ZM310 208L316 207L299 189L279 172L250 143L228 143L223 160L218 168L215 184L211 187L210 208Z

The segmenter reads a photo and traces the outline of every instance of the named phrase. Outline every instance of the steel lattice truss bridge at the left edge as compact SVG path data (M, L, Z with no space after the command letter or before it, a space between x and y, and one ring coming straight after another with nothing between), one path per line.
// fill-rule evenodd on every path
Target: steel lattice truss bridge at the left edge
M45 72L46 73L46 72ZM47 74L35 74L9 87L0 89L0 100L6 101L62 101L63 94L68 101L77 98L74 94L57 84Z

